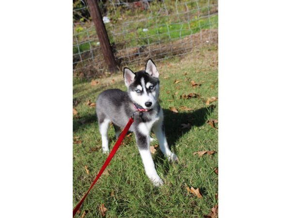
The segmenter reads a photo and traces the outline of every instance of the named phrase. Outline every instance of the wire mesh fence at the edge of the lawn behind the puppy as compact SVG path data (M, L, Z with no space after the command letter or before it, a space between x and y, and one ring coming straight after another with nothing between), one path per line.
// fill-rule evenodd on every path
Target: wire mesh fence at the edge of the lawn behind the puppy
M185 55L217 44L217 0L99 1L114 57L120 66ZM101 75L106 64L85 0L73 9L73 69L76 76Z

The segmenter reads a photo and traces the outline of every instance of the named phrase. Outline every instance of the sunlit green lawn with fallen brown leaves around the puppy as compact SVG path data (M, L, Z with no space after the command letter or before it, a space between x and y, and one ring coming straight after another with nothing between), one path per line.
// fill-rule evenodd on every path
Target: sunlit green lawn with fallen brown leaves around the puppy
M84 210L88 210L86 218L101 217L98 207L104 203L108 209L105 217L111 218L203 218L218 203L215 198L218 176L213 172L218 166L218 154L202 157L193 155L196 151L218 151L218 132L207 124L207 120L218 118L217 101L211 103L213 109L205 103L207 98L218 95L217 47L201 48L183 59L156 64L160 72L160 102L164 110L166 137L171 150L179 158L178 163L169 163L161 152L155 153L154 162L164 185L153 187L145 174L134 136L126 137L109 165L109 175L101 176L76 217L81 217ZM129 67L134 71L140 69L137 66ZM181 82L174 84L176 79ZM202 85L193 88L190 80ZM81 143L73 144L73 206L81 200L107 157L101 152L95 109L85 103L88 100L94 102L97 95L108 88L125 90L121 74L98 81L97 86L90 83L74 85L74 100L78 100L79 104L74 106L78 114L73 119L73 134L79 137ZM175 95L176 92L178 94ZM199 93L200 97L180 99L183 93ZM169 110L173 106L178 110L182 106L194 110L173 113ZM183 123L189 123L191 128L181 129ZM113 126L109 130L109 139L112 149L115 143ZM154 141L151 145L156 143ZM198 187L203 197L198 199L187 193L185 184Z

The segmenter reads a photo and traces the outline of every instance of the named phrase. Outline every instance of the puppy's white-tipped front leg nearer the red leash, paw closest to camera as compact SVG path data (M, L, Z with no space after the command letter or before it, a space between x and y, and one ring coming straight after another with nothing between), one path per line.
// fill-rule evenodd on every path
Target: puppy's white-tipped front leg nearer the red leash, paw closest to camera
M158 175L156 169L155 169L155 164L153 161L153 158L150 154L149 150L149 144L150 144L150 137L149 133L148 135L144 135L138 130L135 131L135 138L136 138L136 143L138 146L138 150L140 152L140 155L142 157L146 175L147 177L152 181L152 183L155 186L160 186L163 184L162 179Z

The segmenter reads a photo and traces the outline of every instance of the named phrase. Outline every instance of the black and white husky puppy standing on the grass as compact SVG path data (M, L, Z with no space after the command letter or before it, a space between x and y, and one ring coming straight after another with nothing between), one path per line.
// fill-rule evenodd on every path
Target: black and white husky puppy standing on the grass
M146 175L155 186L163 184L158 175L152 159L149 145L150 132L155 133L162 153L170 161L177 160L177 156L169 149L163 126L163 112L159 104L159 72L154 62L146 62L146 70L133 73L129 68L124 68L123 77L128 92L119 89L109 89L97 98L97 117L102 138L103 153L108 153L108 126L113 123L116 138L120 128L125 127L129 117L135 111L133 103L140 108L150 109L146 112L137 112L129 131L134 132L139 153L142 157Z

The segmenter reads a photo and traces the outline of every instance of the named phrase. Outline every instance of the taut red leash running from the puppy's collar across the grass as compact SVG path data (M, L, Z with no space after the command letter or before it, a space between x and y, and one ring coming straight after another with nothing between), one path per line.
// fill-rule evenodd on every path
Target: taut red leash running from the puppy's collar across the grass
M82 205L83 201L85 200L85 198L87 197L89 191L92 189L92 187L95 185L95 183L97 182L97 180L99 179L99 177L101 176L101 174L103 173L103 171L106 169L106 167L110 163L111 159L113 158L113 156L115 155L117 149L119 148L121 142L123 141L125 135L129 131L129 127L130 127L130 125L132 123L133 123L133 116L129 118L128 124L124 127L124 130L120 134L120 136L119 136L118 140L116 141L116 143L115 143L112 151L110 152L109 156L107 157L106 161L104 162L103 166L101 167L101 170L98 172L98 175L96 176L96 178L95 178L94 182L92 183L92 185L90 186L89 190L86 192L86 194L84 195L84 197L81 199L81 201L74 208L74 210L73 210L73 217L75 216L75 214L77 213L77 211L81 207L81 205Z

